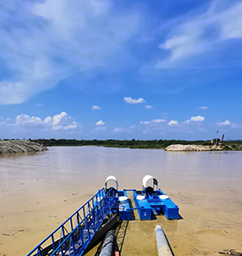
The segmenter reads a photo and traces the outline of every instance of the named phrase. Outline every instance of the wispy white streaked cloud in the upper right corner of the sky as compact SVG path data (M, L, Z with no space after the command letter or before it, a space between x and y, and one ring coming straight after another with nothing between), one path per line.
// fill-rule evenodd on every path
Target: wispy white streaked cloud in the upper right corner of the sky
M229 2L227 2L229 3ZM242 3L223 6L214 0L209 10L199 16L188 16L171 31L160 48L169 57L156 63L157 69L176 67L181 61L204 54L216 44L232 38L242 38Z

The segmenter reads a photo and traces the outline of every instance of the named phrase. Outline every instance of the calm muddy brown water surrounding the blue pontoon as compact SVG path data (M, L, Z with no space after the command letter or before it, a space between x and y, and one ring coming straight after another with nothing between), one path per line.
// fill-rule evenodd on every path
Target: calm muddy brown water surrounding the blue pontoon
M120 189L141 189L145 174L155 176L182 216L130 221L121 255L157 255L156 224L176 256L242 252L242 152L61 147L0 156L0 255L29 253L110 174Z

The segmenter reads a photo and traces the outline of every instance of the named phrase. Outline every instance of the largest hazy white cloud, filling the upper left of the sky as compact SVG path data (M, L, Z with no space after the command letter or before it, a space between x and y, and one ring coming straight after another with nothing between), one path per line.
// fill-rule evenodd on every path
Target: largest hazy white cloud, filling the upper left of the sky
M110 0L1 1L0 104L25 102L125 52L140 17L117 16L112 8Z

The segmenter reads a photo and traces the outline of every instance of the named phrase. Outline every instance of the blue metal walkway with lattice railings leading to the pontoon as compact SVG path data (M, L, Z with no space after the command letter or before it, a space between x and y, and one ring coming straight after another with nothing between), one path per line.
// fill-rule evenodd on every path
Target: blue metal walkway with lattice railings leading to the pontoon
M115 203L115 190L102 188L27 256L82 255Z

